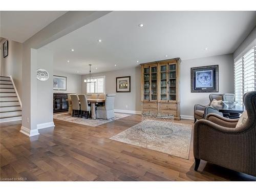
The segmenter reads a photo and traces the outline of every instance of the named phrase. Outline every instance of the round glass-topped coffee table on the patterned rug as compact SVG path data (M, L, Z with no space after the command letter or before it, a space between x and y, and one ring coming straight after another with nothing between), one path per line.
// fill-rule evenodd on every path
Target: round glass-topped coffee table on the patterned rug
M141 121L141 131L146 134L165 136L173 133L174 115L172 114L143 112Z

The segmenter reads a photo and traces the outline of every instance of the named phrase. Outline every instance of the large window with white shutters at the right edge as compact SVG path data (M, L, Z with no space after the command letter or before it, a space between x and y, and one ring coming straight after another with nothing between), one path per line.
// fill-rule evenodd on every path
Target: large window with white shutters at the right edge
M235 99L243 104L243 94L256 90L256 46L251 47L234 63Z

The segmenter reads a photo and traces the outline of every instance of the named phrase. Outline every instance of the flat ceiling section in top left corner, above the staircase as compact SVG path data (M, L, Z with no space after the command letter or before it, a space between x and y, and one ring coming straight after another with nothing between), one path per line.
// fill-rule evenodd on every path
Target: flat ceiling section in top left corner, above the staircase
M1 11L1 37L24 42L67 11Z

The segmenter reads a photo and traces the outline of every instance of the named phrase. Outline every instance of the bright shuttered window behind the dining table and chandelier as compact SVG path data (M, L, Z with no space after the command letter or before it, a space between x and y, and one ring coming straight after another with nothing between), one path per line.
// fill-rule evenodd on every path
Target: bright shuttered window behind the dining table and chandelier
M87 83L87 94L105 92L105 76L93 78L95 83Z

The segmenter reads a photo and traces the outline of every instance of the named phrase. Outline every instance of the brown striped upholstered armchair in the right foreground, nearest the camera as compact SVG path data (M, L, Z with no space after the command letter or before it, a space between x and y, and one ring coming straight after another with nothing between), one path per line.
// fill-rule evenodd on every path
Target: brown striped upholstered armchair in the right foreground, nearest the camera
M194 126L195 170L200 160L256 176L256 91L243 96L248 119L208 114Z

